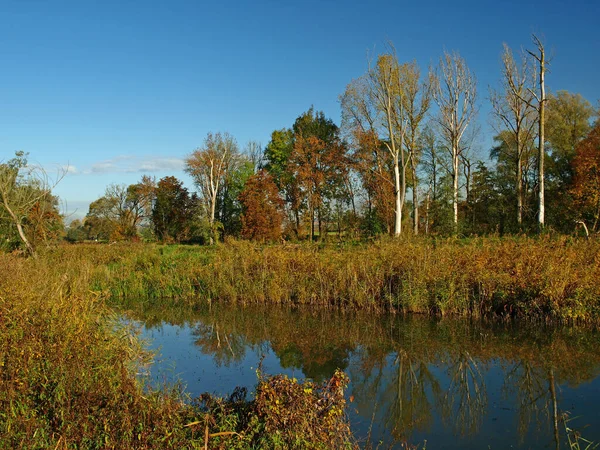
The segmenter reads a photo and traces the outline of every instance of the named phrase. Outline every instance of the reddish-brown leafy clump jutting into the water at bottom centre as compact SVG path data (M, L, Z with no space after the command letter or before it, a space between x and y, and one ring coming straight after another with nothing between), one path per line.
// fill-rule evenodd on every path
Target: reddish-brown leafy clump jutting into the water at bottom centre
M346 418L347 384L340 371L322 384L261 374L252 401L243 390L228 399L201 395L197 406L204 416L190 425L204 430L213 449L357 448Z

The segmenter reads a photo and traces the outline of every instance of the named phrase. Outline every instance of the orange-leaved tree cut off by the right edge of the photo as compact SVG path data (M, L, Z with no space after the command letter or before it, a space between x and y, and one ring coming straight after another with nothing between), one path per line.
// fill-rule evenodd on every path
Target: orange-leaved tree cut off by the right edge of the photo
M600 222L600 120L579 143L573 158L575 179L572 194L579 211L578 219L592 223L598 231Z

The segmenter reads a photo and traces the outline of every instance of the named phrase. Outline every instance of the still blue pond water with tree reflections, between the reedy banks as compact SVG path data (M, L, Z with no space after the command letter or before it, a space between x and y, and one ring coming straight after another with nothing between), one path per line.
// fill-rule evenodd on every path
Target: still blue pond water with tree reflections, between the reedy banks
M158 352L152 382L192 396L252 392L261 360L315 381L343 369L354 433L374 447L569 448L566 426L600 442L595 331L274 307L128 315Z

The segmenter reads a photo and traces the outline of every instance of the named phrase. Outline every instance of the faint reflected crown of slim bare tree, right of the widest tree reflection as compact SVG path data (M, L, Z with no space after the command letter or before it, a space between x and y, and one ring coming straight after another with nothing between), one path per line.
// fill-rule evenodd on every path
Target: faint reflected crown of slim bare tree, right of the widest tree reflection
M477 362L467 351L450 355L450 385L443 398L442 415L454 422L461 434L475 433L487 408L485 380Z

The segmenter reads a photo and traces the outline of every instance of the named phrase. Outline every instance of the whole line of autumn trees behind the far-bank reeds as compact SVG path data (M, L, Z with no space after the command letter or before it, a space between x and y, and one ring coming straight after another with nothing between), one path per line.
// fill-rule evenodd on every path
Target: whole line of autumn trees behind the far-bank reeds
M67 239L597 232L598 112L579 94L546 92L546 51L536 36L533 44L517 55L504 46L500 82L483 96L492 106L489 158L475 152L482 96L460 54L445 52L422 74L390 44L340 95L339 126L311 107L264 148L209 133L185 160L197 192L172 176L111 185ZM6 205L32 185L6 176L15 161L1 166L13 194L0 189L0 220L22 241L19 227L35 228L29 213L15 220Z

